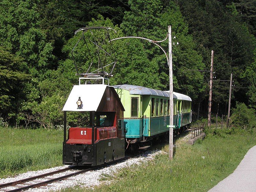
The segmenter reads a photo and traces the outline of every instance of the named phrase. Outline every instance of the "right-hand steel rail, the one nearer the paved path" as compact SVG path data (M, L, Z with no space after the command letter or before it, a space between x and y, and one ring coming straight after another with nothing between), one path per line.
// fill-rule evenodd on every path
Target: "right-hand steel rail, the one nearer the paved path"
M137 154L136 154L137 155ZM81 173L84 173L84 172L88 172L88 171L92 171L92 170L95 170L95 169L98 169L98 168L102 168L102 167L106 167L110 164L115 164L115 163L118 163L120 161L124 161L124 160L127 160L127 159L130 159L136 155L131 155L131 156L128 156L128 157L124 157L124 158L121 158L121 159L118 159L118 160L115 160L115 161L111 161L109 163L106 163L106 164L101 164L101 165L98 165L98 166L95 166L95 167L90 167L88 169L84 169L84 170L81 170L81 171L78 171L78 172L75 172L75 173L70 173L70 174L67 174L67 175L64 175L64 176L61 176L61 177L57 177L57 178L54 178L54 179L51 179L51 180L47 180L47 181L42 181L42 182L39 182L39 183L35 183L35 184L32 184L32 185L28 185L28 186L24 186L22 188L17 188L17 189L12 189L12 190L8 190L8 192L20 192L20 191L24 191L24 190L27 190L29 188L37 188L37 187L41 187L41 186L44 186L44 185L47 185L47 184L50 184L50 183L53 183L53 182L56 182L56 181L60 181L60 180L64 180L64 179L67 179L69 177L73 177L73 176L76 176L78 174L81 174ZM75 167L75 166L74 166ZM72 167L72 168L74 168ZM66 168L67 169L67 168ZM68 170L66 170L68 171ZM47 174L47 173L46 173ZM52 174L50 174L52 175ZM43 178L43 177L40 177L40 178ZM30 178L29 178L30 179ZM36 178L36 179L39 179L39 178ZM31 180L29 180L31 181ZM18 184L18 183L16 183ZM19 183L20 184L20 183ZM9 185L10 186L10 185ZM7 186L6 186L7 187ZM3 188L3 187L2 187ZM0 191L1 191L1 188L0 188Z

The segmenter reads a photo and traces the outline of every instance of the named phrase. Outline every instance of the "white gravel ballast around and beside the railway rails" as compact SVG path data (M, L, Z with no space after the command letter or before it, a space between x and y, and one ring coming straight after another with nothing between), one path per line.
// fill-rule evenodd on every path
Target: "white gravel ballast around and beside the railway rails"
M160 153L165 153L164 151L161 150L155 150L152 152L147 152L145 154L142 154L140 156L136 156L134 158L130 158L128 160L125 160L123 162L117 163L117 164L113 164L113 165L109 165L108 167L99 169L99 170L94 170L94 171L90 171L90 172L85 172L83 174L79 174L73 177L70 177L66 180L62 180L59 182L54 182L49 184L49 186L44 186L46 188L34 188L34 189L30 189L27 191L39 191L39 192L45 192L45 191L56 191L56 190L60 190L62 188L67 188L67 187L74 187L74 186L81 186L81 187L91 187L93 188L93 186L98 186L100 185L101 181L100 178L102 177L102 174L107 174L107 175L112 175L115 172L117 172L119 169L122 169L124 167L129 167L133 164L140 164L142 162L146 162L146 161L150 161L154 158L154 156L160 154ZM63 165L63 166L59 166L59 167L53 167L50 169L44 169L44 170L40 170L40 171L30 171L30 172L26 172L26 173L22 173L19 174L16 177L10 177L10 178L6 178L6 179L0 179L0 184L3 183L8 183L8 182L12 182L12 181L16 181L16 180L21 180L21 179L26 179L28 177L33 177L36 175L41 175L44 173L48 173L51 171L56 171L58 169L63 169L68 167L68 165ZM66 172L62 172L62 173L58 173L55 175L51 175L51 176L47 176L46 178L56 178L56 177L60 177L69 173L72 173L74 171L66 171ZM27 183L36 183L39 181L44 181L47 179L37 179L34 181L28 181ZM24 184L19 184L20 186L24 185L25 186L26 183ZM6 187L4 189L15 189L15 187ZM0 189L1 191L1 189Z

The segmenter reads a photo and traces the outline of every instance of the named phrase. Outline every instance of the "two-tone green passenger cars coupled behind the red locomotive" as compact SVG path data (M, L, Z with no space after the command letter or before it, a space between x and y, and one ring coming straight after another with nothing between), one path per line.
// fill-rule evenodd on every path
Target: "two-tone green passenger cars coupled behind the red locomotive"
M126 138L133 141L169 131L170 93L135 85L113 86L124 106ZM191 98L173 92L173 124L176 130L191 122Z

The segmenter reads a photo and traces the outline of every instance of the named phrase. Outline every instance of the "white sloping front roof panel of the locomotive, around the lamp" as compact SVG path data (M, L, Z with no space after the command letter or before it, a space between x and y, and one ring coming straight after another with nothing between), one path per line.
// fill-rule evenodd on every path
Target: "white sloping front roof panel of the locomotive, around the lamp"
M74 85L62 111L97 111L107 86L104 84ZM77 109L76 101L79 97L82 101L82 109Z

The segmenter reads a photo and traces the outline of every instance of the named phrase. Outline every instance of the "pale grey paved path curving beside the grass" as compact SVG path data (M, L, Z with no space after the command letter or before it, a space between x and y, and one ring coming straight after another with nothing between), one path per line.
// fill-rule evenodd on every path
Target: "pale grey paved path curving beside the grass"
M256 146L249 149L236 170L208 192L256 192Z

